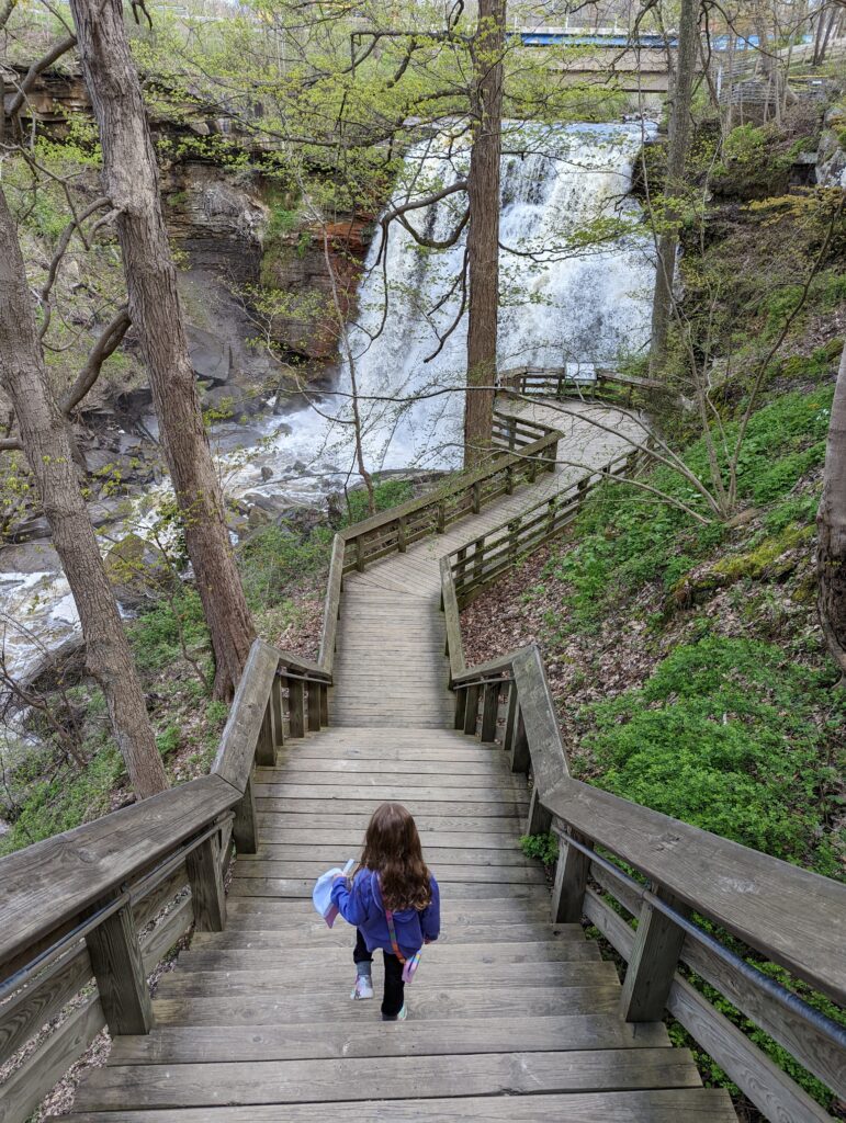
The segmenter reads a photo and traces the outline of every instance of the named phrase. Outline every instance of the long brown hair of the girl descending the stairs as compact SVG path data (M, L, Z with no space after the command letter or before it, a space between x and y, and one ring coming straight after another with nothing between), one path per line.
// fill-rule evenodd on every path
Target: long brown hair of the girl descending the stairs
M417 824L401 803L383 803L373 812L361 864L379 874L382 901L391 912L421 910L431 903Z

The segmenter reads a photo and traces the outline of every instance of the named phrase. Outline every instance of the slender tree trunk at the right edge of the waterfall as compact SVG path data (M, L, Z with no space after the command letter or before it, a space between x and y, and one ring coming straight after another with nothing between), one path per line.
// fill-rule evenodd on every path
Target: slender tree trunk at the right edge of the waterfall
M670 110L670 144L664 194L679 197L684 191L684 164L690 146L690 103L699 40L699 0L682 0L679 21L679 56L675 66L675 85ZM666 216L672 221L672 216ZM665 230L658 237L655 289L652 301L652 343L649 347L649 375L661 373L666 353L670 313L673 303L673 275L679 248L679 230Z

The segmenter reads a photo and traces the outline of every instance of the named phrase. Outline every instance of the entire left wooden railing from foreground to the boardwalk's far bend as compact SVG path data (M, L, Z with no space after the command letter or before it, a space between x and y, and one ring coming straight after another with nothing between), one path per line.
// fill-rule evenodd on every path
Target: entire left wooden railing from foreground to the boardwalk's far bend
M513 451L335 537L317 663L253 643L211 775L0 859L0 1123L28 1119L104 1026L149 1031L147 976L192 925L225 926L233 848L256 851L254 765L328 724L344 574L554 469L557 430L503 416L498 433Z

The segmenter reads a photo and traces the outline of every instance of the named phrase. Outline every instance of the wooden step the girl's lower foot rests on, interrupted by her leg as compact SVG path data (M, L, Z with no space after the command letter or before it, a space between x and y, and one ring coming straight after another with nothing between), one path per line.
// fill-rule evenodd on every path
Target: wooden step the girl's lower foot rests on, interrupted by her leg
M417 986L413 983L412 986ZM456 1017L560 1017L564 1014L617 1014L620 1003L617 982L583 987L438 987L427 984L409 994L415 1021L453 1021ZM249 998L207 995L202 998L155 998L153 1013L158 1025L292 1025L300 1022L326 1024L354 1022L365 1016L362 1005L349 1002L347 987L320 996L304 988L286 990L279 997L261 994ZM367 1007L370 1008L370 1007ZM374 1016L379 1016L379 1012Z

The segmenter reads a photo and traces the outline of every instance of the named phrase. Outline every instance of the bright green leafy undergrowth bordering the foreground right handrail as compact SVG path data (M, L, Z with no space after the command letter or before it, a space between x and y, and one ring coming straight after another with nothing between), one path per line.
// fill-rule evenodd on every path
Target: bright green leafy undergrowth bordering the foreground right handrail
M583 711L592 763L581 769L617 795L833 874L826 760L846 703L829 687L779 647L706 637L675 648L643 688Z

